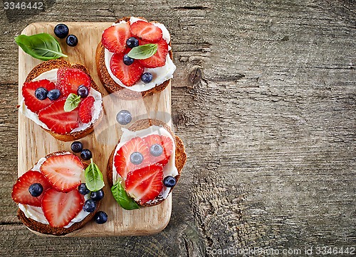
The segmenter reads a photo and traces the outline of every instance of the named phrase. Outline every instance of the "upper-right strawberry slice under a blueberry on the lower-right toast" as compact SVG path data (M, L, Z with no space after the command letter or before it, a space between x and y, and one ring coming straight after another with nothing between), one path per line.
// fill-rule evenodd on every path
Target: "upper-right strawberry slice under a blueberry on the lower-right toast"
M159 156L154 156L150 153L151 163L160 163L162 165L166 165L168 163L173 151L173 142L171 138L167 136L150 135L143 138L143 141L147 143L149 150L155 144L159 144L159 146L162 146L163 148L162 154Z

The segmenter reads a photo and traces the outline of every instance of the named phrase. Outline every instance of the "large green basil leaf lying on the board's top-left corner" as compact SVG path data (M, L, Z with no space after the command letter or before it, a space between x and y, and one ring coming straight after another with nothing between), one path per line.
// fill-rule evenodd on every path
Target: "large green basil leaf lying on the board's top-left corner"
M23 52L39 60L68 57L62 53L61 46L56 38L47 33L19 35L15 38L15 41L22 48Z

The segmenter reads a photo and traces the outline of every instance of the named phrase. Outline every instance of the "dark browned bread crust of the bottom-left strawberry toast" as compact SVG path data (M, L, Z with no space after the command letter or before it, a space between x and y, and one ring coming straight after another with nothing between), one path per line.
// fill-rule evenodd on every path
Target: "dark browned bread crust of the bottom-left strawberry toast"
M49 158L51 156L57 155L58 153L65 153L65 151L58 151L56 153L50 153L46 155L46 158ZM84 168L88 167L88 163L82 162L84 165ZM98 209L100 207L101 200L97 202L96 204L96 209L94 212L91 212L87 217L85 217L81 222L76 222L72 226L68 228L60 228L60 227L53 227L48 224L43 224L41 222L36 222L35 220L26 217L26 215L21 211L21 209L17 210L17 217L21 220L23 224L25 224L28 229L31 229L33 231L37 231L38 233L41 234L51 234L55 236L64 236L70 232L73 232L77 229L82 228L87 222L89 222L91 219L93 219L94 215L96 212L98 212Z

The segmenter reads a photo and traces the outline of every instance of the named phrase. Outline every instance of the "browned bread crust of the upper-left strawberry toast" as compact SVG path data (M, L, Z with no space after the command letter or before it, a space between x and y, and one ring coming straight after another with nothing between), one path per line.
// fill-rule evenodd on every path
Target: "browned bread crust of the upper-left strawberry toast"
M70 64L70 62L67 62L66 60L62 59L56 59L56 60L48 60L46 62L41 62L39 65L34 67L30 73L28 73L25 82L31 82L34 78L38 77L41 75L43 72L47 72L48 70L53 70L53 69L59 69L61 67L70 67L70 68L75 68L79 70L83 70L91 80L91 87L95 89L96 91L100 92L99 87L97 84L95 84L93 77L90 76L88 70L86 67L80 64ZM102 105L103 106L103 105ZM61 141L75 141L78 140L79 138L83 138L84 136L87 136L88 134L92 133L94 131L94 128L98 126L100 123L101 119L103 118L103 110L99 114L99 119L95 121L95 124L91 124L88 128L85 128L83 131L76 131L72 133L67 133L67 134L58 134L54 133L52 131L49 131L48 129L43 128L43 130L47 131L50 133L54 138L57 138L58 140Z

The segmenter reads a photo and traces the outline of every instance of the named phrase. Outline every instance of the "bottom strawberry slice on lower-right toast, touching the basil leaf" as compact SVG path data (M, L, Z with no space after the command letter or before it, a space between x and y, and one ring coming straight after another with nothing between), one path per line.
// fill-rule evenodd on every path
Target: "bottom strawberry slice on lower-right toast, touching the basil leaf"
M141 204L155 199L163 188L163 168L153 164L127 173L125 190Z

